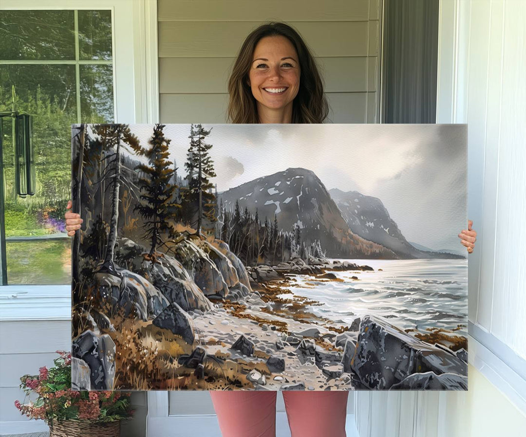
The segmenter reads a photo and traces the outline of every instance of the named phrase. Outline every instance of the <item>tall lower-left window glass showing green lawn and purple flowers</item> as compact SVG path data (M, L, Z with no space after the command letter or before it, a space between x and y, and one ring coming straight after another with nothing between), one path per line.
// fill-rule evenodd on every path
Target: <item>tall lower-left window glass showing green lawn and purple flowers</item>
M70 197L71 124L76 123L74 65L0 65L0 111L33 115L36 194L15 193L12 118L3 118L6 259L8 282L68 283L70 240L9 241L65 233Z

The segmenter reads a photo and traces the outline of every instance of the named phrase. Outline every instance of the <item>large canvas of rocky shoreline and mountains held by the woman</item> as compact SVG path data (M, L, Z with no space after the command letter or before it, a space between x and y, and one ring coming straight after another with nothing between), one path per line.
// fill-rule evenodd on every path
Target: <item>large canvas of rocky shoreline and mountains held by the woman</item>
M465 125L73 125L79 390L467 390Z

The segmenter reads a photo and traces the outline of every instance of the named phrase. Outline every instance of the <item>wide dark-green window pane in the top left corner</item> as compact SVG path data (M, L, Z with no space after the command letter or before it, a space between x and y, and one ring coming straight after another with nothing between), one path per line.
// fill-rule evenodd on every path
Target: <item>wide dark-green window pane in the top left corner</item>
M0 59L75 59L73 11L2 11Z

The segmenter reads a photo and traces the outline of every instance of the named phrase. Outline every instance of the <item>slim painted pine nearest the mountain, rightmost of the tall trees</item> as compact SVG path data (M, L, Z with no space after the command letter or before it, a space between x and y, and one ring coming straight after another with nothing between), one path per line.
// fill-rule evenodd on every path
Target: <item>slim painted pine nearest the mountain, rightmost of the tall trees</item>
M210 131L200 124L191 125L188 137L190 147L185 162L188 187L184 190L183 199L189 216L187 221L191 226L196 226L197 235L201 235L203 219L209 223L217 220L217 203L215 195L210 192L214 186L210 179L216 176L214 161L209 155L212 145L205 142Z

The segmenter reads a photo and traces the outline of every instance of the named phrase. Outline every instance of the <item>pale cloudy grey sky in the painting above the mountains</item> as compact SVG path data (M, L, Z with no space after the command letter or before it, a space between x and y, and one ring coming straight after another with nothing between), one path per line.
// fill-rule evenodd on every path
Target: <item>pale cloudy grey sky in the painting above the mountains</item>
M463 125L204 125L218 191L289 167L316 173L330 190L378 197L408 241L462 249L466 228ZM131 129L146 144L153 125ZM167 125L171 159L184 174L190 125Z

